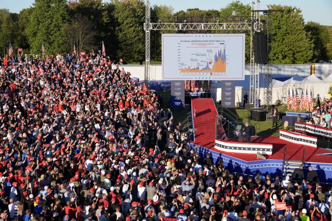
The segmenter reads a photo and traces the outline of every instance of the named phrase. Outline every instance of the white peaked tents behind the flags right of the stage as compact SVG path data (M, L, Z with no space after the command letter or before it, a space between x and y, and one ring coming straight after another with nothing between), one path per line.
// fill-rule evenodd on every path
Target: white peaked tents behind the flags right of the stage
M273 80L272 82L272 103L275 104L278 100L281 103L286 103L288 89L290 90L290 94L292 90L297 90L299 96L301 96L302 92L305 95L308 90L308 95L310 95L310 91L313 92L313 98L316 98L317 94L320 94L321 97L324 97L327 94L329 89L329 85L332 82L331 76L328 76L324 81L317 78L315 75L311 75L307 78L303 78L301 76L295 75L294 77L288 79L287 81L280 82L277 80ZM261 88L259 97L263 101L264 92Z

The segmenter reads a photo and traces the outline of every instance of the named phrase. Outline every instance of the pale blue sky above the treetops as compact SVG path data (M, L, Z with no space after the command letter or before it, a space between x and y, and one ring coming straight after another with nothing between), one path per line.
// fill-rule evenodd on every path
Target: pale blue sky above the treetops
M110 1L110 0L105 0ZM0 8L9 9L11 12L19 12L34 3L34 0L1 0ZM150 4L154 5L171 5L175 11L186 10L187 8L200 9L217 9L226 6L232 0L150 0ZM244 4L250 4L252 0L242 0ZM267 5L280 4L291 5L302 9L304 19L308 21L316 21L323 25L332 25L332 0L261 0L260 8L266 9Z

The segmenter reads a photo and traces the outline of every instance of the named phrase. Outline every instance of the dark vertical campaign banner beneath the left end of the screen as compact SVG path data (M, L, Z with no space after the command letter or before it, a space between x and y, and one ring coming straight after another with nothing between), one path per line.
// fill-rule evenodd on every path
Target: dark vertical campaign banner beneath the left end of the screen
M184 81L171 81L171 107L184 107Z

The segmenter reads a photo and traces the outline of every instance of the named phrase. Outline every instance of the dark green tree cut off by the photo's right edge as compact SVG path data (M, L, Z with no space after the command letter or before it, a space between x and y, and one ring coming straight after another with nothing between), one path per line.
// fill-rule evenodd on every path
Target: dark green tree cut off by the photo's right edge
M327 44L330 42L328 27L317 22L310 21L305 25L305 29L314 44L312 62L328 60Z

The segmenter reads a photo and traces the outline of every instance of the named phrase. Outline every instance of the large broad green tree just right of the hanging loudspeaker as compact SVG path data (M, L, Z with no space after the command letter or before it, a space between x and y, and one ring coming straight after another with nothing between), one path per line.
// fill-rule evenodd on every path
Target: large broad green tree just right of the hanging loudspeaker
M284 12L272 13L272 50L271 63L303 64L313 56L313 44L305 30L301 10L290 6L270 5L269 9L283 9Z

